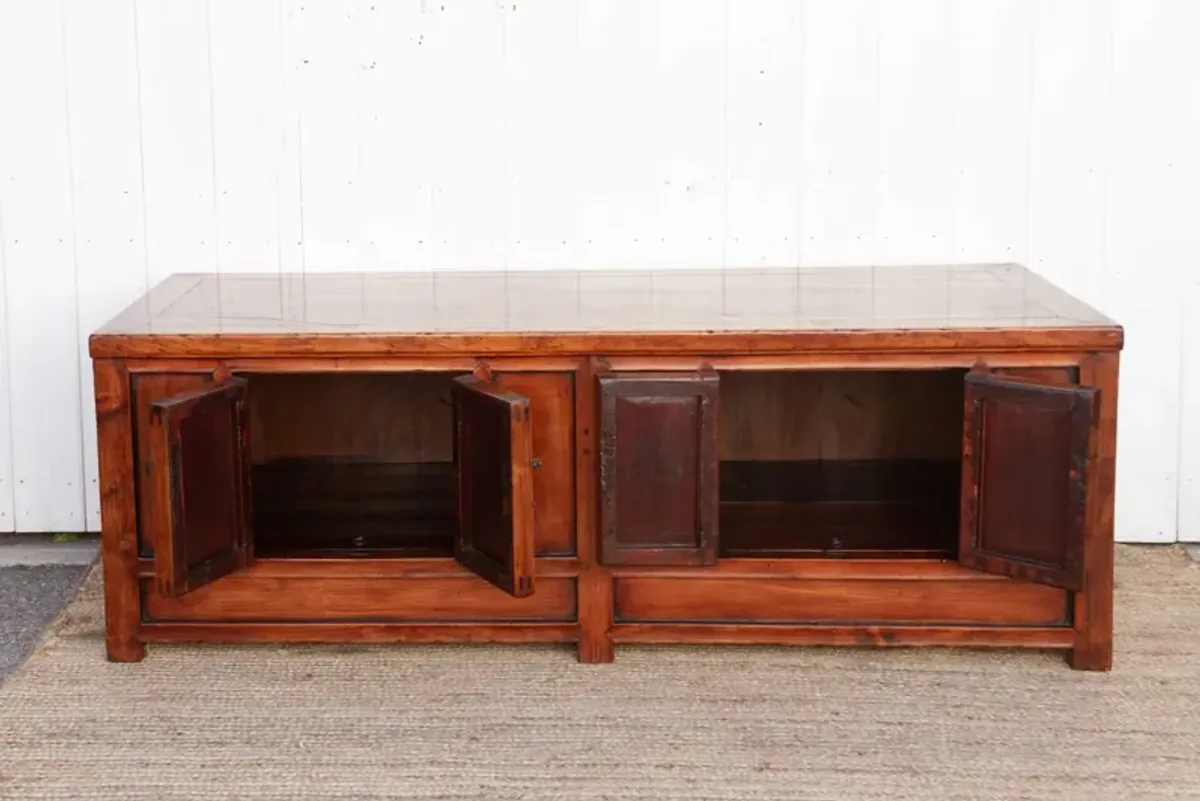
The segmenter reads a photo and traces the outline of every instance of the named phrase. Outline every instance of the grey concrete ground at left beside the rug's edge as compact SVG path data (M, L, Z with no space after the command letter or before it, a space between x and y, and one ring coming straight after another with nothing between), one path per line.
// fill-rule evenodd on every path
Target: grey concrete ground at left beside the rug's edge
M95 537L0 536L0 681L29 656L96 556Z

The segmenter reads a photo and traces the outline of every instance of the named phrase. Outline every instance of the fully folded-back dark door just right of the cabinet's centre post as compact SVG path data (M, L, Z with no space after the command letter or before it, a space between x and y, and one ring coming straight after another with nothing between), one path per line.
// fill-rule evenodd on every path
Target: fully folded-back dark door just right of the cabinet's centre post
M600 560L712 565L718 547L715 374L604 374Z

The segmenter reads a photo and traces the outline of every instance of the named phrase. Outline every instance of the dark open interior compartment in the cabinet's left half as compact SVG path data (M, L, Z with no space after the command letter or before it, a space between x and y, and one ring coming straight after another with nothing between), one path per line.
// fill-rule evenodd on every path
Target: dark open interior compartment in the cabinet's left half
M247 375L258 556L450 556L461 373Z

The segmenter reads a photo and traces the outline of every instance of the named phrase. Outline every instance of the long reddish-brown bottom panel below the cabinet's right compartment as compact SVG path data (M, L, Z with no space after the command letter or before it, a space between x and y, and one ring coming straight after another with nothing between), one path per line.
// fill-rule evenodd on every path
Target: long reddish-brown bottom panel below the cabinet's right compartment
M1024 582L618 578L617 621L1070 627L1068 592Z

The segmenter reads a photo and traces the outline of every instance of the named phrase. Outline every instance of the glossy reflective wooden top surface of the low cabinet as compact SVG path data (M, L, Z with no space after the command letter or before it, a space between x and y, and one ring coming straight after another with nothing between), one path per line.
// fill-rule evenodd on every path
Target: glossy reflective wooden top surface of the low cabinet
M1013 264L174 275L96 333L707 333L1116 327Z

